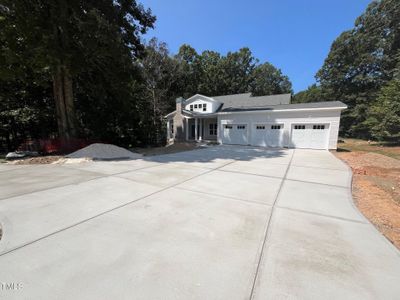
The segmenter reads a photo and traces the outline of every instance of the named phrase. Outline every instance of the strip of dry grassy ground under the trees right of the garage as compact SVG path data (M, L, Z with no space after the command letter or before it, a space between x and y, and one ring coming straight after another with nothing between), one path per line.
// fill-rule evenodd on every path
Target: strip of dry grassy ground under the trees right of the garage
M393 143L379 143L359 140L359 139L347 139L339 138L338 152L372 152L382 155L386 155L395 159L400 160L400 145Z

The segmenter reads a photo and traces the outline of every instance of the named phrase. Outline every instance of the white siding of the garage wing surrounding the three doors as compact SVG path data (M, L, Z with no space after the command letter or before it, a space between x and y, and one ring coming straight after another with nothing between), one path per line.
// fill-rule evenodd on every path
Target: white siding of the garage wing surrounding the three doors
M218 114L218 142L222 143L224 124L248 124L249 141L255 124L283 124L283 146L290 147L292 124L329 124L328 149L336 149L340 122L340 110L297 110L281 112L243 112Z

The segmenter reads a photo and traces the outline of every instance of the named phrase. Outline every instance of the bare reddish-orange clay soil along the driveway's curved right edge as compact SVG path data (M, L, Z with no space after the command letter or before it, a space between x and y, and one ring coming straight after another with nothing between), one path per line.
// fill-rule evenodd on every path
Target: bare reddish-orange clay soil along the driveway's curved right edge
M400 249L400 160L368 152L334 152L353 171L358 209Z

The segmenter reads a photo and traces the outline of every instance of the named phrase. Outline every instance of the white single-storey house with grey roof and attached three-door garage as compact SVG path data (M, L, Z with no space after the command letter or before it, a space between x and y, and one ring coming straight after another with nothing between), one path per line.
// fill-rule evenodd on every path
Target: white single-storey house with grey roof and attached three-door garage
M168 142L336 149L340 101L290 104L291 95L253 97L250 93L178 98L166 116Z

